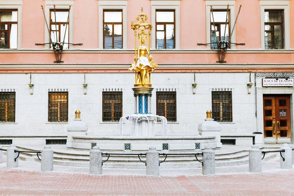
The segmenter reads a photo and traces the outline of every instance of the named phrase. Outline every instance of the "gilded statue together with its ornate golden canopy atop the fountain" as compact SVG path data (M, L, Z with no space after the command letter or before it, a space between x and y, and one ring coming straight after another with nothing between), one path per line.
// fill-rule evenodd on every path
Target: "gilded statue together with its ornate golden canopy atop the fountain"
M147 15L143 14L143 7L141 8L142 13L136 18L136 21L132 21L131 29L134 30L135 35L135 58L129 70L134 71L135 74L135 85L134 86L151 86L151 72L158 66L153 57L150 54L150 35L152 25L147 23ZM140 46L137 49L137 30L138 39L140 40ZM148 30L148 33L145 32ZM146 40L149 40L149 48L146 47ZM148 54L148 58L146 57ZM147 75L149 74L149 77ZM136 85L137 84L137 85Z

